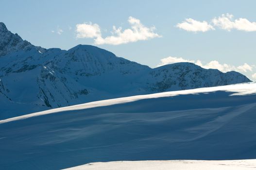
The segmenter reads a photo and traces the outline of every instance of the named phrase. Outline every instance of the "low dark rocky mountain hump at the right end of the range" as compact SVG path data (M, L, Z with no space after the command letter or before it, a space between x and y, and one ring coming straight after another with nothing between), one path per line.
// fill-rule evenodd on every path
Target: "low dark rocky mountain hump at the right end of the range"
M154 68L151 72L153 91L185 90L200 87L230 85L250 81L246 76L230 71L204 69L193 63L175 63Z

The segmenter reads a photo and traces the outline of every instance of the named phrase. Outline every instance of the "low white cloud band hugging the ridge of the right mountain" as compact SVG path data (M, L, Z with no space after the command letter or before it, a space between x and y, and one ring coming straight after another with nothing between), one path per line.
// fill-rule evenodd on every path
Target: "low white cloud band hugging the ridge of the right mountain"
M248 65L247 63L244 63L244 65L236 67L236 66L232 66L229 64L221 64L218 61L214 60L214 61L210 61L209 63L203 64L202 61L200 60L187 60L181 57L167 57L167 58L163 58L160 60L161 62L158 64L157 67L159 66L163 66L163 65L167 65L167 64L172 64L172 63L179 63L179 62L189 62L189 63L194 63L202 68L212 68L212 69L219 69L222 72L228 72L228 71L239 71L239 72L247 72L252 71L253 70L253 66Z

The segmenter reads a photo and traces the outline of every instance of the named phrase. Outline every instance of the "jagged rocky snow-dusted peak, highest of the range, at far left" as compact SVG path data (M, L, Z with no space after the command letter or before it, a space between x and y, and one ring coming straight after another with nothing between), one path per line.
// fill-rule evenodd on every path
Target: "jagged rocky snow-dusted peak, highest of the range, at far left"
M23 41L18 34L12 34L4 23L0 22L0 56L31 47L33 46L28 41Z

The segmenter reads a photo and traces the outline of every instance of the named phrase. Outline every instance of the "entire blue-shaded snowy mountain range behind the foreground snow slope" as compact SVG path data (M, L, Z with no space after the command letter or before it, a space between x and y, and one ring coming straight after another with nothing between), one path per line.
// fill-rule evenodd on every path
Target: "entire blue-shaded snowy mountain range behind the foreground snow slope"
M22 40L0 23L0 119L155 92L250 82L191 63L149 68L89 45L68 51Z

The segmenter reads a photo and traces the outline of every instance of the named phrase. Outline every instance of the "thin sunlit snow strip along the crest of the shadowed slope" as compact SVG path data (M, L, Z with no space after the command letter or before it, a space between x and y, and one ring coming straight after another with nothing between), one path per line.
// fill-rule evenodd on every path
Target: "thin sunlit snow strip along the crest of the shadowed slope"
M34 116L46 115L51 113L57 113L61 111L88 109L93 107L101 107L101 106L121 104L126 102L134 102L142 99L173 97L178 95L199 94L199 93L210 93L214 91L231 92L232 94L230 94L230 96L256 94L256 82L237 84L237 85L224 85L224 86L216 86L216 87L197 88L197 89L190 89L190 90L171 91L171 92L155 93L155 94L149 94L149 95L138 95L138 96L132 96L132 97L109 99L109 100L103 100L103 101L97 101L97 102L88 102L85 104L78 104L78 105L73 105L68 107L56 108L56 109L46 110L46 111L37 112L33 114L23 115L15 118L0 120L0 123L18 120L18 119L26 119Z

